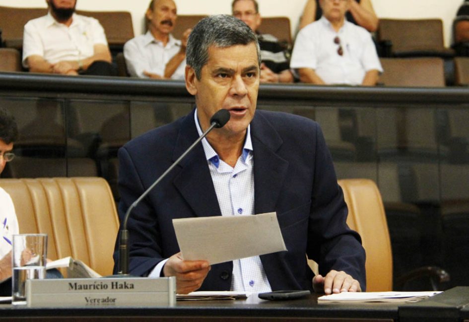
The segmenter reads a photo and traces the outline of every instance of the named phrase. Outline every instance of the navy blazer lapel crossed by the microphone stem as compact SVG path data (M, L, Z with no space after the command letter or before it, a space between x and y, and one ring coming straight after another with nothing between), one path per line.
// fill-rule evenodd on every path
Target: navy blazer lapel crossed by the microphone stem
M173 162L199 137L194 122L194 111L179 129ZM174 179L176 189L194 211L195 216L221 216L215 188L208 170L205 153L200 142L181 162L181 172Z

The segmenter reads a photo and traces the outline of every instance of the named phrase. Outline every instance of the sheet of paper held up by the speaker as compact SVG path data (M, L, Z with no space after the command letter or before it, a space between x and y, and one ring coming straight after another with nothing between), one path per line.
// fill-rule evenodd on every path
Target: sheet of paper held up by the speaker
M212 265L287 250L275 212L173 219L173 225L186 260Z

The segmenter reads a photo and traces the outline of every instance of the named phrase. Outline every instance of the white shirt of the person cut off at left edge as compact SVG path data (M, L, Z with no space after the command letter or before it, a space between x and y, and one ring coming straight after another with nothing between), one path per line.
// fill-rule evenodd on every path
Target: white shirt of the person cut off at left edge
M0 258L11 251L12 236L18 233L18 220L13 201L10 195L0 188Z

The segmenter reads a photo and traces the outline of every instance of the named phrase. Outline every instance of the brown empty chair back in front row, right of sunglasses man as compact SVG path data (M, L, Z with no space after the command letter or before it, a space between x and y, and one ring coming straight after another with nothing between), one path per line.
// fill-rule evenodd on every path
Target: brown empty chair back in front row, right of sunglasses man
M384 72L379 83L385 86L444 87L441 58L381 58Z

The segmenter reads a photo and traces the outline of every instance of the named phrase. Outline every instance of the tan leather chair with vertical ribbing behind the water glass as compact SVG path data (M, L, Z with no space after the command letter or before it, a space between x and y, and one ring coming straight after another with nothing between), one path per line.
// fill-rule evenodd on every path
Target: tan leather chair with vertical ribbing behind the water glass
M13 200L20 233L48 234L48 258L71 256L112 274L119 219L104 179L0 179L0 187Z

